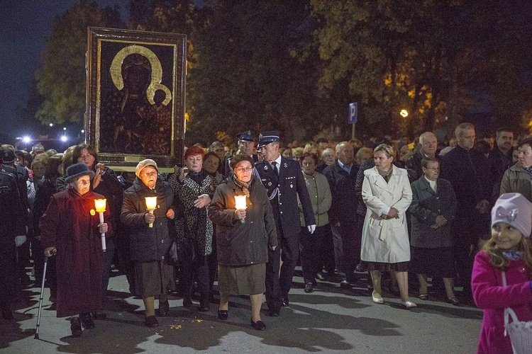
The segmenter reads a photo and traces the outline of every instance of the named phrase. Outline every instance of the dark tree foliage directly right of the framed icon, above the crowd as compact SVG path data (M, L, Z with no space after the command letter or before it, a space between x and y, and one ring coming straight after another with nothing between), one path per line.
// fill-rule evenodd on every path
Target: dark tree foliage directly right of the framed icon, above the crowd
M194 138L278 129L290 141L318 130L318 61L298 55L314 28L305 2L218 1L204 11L188 81Z

